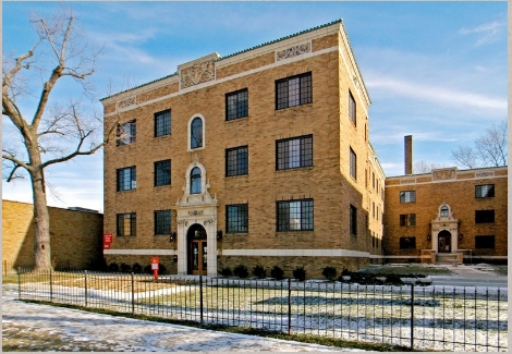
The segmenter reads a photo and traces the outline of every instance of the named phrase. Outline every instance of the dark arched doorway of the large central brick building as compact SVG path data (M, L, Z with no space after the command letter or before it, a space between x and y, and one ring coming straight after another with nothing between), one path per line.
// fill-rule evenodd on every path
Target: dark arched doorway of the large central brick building
M199 223L194 223L186 233L187 264L190 274L206 274L208 270L208 245L206 230Z

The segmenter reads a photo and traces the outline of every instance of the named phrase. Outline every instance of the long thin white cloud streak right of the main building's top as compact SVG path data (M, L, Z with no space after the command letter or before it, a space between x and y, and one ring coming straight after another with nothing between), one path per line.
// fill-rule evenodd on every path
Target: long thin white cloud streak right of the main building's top
M495 110L507 113L507 99L492 98L479 94L450 89L441 86L422 85L392 77L370 78L366 86L376 89L386 89L397 95L417 98L432 103L456 106L464 108Z

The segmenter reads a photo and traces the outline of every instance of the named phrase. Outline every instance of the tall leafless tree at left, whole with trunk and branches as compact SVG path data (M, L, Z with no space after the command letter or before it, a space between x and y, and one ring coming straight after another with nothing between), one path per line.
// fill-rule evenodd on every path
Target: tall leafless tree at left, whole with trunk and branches
M90 93L87 78L94 74L99 50L88 47L72 11L61 9L53 17L31 20L37 42L17 58L3 58L2 119L9 119L20 135L9 136L2 146L3 178L8 182L28 174L34 199L35 269L51 266L50 220L47 206L45 170L77 156L98 151L114 131L102 134L102 119L84 113L80 99L53 102L50 94L58 83L69 85L71 77L85 94ZM38 75L28 75L35 71ZM33 113L22 111L25 99L34 91L37 103ZM84 96L84 95L82 95ZM28 109L25 109L28 110Z

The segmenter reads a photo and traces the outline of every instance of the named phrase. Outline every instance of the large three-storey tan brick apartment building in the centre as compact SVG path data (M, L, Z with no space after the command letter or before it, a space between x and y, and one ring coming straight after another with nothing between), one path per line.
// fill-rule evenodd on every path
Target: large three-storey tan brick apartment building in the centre
M382 252L385 175L343 22L212 53L101 100L108 263L308 277Z

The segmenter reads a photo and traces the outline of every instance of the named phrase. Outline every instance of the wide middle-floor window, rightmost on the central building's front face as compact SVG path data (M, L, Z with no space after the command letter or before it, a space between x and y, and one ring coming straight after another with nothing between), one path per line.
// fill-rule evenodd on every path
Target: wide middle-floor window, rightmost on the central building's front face
M276 170L288 170L313 166L313 136L276 142Z

